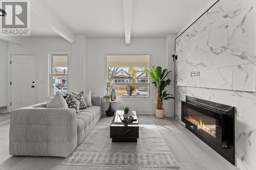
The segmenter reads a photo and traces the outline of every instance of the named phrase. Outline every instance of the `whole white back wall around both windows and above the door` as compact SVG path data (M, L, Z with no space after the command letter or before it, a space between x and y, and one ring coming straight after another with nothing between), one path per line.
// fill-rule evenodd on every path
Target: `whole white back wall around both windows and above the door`
M125 45L124 38L87 38L76 35L71 44L62 38L25 37L22 45L9 43L9 53L35 54L38 58L38 102L49 100L49 53L69 54L69 91L91 89L93 95L103 96L106 82L106 56L108 55L150 55L150 66L157 65L173 70L174 35L166 38L132 38L131 45ZM174 75L169 78L174 80ZM150 85L150 97L123 99L113 104L114 109L130 106L138 113L154 114L156 89ZM174 82L168 87L174 94ZM165 115L174 115L174 101L164 102ZM107 109L108 105L104 105Z

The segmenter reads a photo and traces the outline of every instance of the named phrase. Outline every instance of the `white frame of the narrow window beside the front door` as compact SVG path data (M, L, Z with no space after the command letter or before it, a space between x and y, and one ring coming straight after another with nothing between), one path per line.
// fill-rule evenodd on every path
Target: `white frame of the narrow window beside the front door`
M53 76L67 76L67 81L69 83L69 74L66 74L66 75L53 75L52 72L53 72L53 56L63 56L63 55L66 55L67 56L67 67L69 69L69 54L68 53L49 53L48 54L48 57L49 57L49 78L48 78L48 95L49 96L54 96L55 94L52 93L53 91ZM67 91L69 90L69 85L67 85ZM69 91L68 91L69 92ZM61 93L60 93L61 94ZM64 93L63 93L64 94ZM61 95L63 95L61 94ZM65 95L65 94L64 94Z

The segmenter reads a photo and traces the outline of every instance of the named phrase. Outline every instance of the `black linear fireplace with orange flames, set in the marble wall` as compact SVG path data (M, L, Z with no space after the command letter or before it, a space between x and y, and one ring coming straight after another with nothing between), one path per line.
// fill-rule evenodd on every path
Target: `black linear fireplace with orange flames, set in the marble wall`
M186 128L234 164L234 107L190 96L181 105Z

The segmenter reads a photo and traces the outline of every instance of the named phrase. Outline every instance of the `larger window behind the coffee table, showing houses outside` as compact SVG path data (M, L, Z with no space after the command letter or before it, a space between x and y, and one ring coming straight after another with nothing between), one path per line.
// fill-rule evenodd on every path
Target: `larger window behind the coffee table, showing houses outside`
M108 56L107 79L119 97L148 97L149 67L148 55Z

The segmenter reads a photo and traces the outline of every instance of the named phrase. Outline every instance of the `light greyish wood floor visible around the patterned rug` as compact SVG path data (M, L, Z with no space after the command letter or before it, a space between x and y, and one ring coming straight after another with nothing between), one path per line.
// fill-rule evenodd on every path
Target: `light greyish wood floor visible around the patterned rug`
M181 170L238 169L187 129L181 129L174 118L152 118L175 156ZM89 166L60 165L64 158L9 155L10 114L0 113L0 169L90 169ZM156 141L157 142L157 141ZM99 168L100 169L100 168Z

